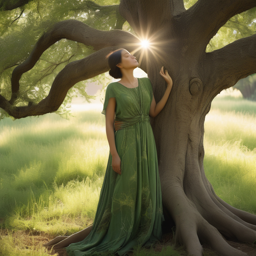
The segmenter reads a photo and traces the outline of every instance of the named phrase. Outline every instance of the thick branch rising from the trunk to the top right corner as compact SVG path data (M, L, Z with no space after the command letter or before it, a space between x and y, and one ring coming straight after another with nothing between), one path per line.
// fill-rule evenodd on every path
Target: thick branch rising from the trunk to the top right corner
M194 43L203 40L203 47L206 48L211 38L231 17L255 6L255 0L198 0L183 16L189 27L188 37Z

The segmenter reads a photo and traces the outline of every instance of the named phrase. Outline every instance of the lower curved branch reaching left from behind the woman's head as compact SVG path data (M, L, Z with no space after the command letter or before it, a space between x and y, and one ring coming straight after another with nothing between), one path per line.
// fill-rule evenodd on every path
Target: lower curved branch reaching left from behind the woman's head
M43 115L56 111L72 86L79 81L87 80L109 70L105 56L116 48L107 47L84 59L67 64L54 79L49 95L38 104L32 105L30 102L26 107L13 107L8 101L4 101L4 97L0 97L0 107L14 118Z

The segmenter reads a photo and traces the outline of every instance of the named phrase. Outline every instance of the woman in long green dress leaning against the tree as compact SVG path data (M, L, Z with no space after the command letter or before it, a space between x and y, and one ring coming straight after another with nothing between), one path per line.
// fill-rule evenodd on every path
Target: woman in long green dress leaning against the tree
M162 67L168 85L156 104L150 80L133 76L139 64L132 54L118 49L107 57L109 74L121 80L107 86L101 112L110 152L95 219L86 229L45 244L58 242L54 248L67 246L72 256L125 255L162 236L161 185L149 115L155 117L165 106L172 79Z

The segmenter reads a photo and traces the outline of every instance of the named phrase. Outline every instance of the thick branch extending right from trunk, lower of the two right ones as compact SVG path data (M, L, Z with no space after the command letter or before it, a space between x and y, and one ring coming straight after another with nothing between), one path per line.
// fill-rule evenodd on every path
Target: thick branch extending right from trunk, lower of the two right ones
M206 53L206 70L218 81L219 92L256 73L256 34Z

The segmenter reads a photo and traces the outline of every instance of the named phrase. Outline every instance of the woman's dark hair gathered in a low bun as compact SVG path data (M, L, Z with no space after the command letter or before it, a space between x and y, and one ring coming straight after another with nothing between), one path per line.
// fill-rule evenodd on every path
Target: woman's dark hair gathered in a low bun
M122 56L121 52L125 49L117 49L115 51L110 52L106 58L108 58L108 65L110 67L109 75L114 77L115 79L121 78L122 73L119 67L116 65L121 62Z

